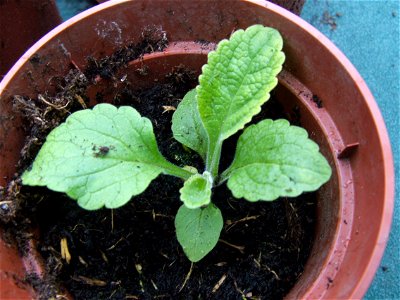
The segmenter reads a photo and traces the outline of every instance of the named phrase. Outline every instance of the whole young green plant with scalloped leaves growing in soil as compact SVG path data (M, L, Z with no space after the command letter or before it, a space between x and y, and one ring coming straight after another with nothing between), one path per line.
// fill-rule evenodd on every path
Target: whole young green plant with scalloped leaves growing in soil
M217 244L223 227L212 188L227 182L236 198L272 201L314 191L331 169L307 132L286 120L263 120L239 137L234 160L219 173L222 143L251 121L277 85L285 56L278 31L238 30L208 55L199 85L172 118L175 139L201 155L205 170L178 167L159 152L150 120L132 107L99 104L73 113L55 128L22 175L26 185L65 192L88 210L117 208L159 174L180 177L183 205L176 234L197 262Z

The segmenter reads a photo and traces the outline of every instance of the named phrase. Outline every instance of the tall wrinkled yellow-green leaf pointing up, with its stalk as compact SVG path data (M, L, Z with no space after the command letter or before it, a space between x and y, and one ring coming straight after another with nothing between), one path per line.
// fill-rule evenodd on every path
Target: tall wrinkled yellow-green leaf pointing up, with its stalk
M208 55L197 87L201 120L209 137L206 167L217 174L222 141L259 113L277 85L285 56L273 28L238 30Z

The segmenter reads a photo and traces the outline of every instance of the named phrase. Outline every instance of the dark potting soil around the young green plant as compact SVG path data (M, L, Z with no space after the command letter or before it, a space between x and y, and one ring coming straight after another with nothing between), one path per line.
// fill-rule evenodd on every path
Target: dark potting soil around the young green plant
M107 76L103 75L112 80L115 70L105 69ZM95 76L86 73L86 78ZM113 101L116 105L131 105L152 120L160 151L170 161L201 170L201 159L176 142L171 132L172 107L196 81L190 71L177 68L164 83L149 89L135 90L126 83ZM87 100L82 91L78 95ZM101 95L97 98L102 100ZM21 104L26 99L19 100ZM79 106L79 101L75 105ZM20 110L29 119L25 108L22 105ZM47 116L36 108L31 115ZM62 110L52 113L59 116ZM272 97L255 122L265 117L287 116ZM42 134L49 128L39 129ZM28 141L32 142L34 136L35 132L29 132ZM238 134L224 144L221 170L231 162L237 138ZM32 146L24 149L29 155L22 159L21 166L26 166L37 151L31 150ZM62 193L22 187L18 190L22 217L12 221L13 225L20 224L21 231L13 234L20 238L23 251L28 228L39 227L37 248L47 270L44 279L31 274L27 281L45 299L63 293L57 282L62 282L75 299L282 298L301 275L313 244L315 194L249 203L233 198L225 185L215 188L213 201L222 211L224 229L216 248L191 264L175 236L174 217L181 205L178 191L182 184L180 179L161 175L124 207L98 211L85 211ZM65 253L62 257L61 243L68 248L69 262Z

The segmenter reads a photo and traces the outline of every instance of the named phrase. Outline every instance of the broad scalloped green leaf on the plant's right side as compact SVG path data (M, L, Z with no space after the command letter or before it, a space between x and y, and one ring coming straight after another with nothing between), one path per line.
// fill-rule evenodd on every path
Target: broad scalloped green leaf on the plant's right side
M317 190L331 168L316 143L286 120L264 120L240 136L232 165L222 174L236 198L272 201Z

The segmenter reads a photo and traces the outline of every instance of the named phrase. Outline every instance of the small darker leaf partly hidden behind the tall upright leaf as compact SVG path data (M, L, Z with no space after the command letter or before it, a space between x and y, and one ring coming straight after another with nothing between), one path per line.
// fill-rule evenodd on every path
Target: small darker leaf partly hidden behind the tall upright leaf
M178 105L172 116L172 132L177 141L205 159L208 137L197 108L196 90L188 92Z

